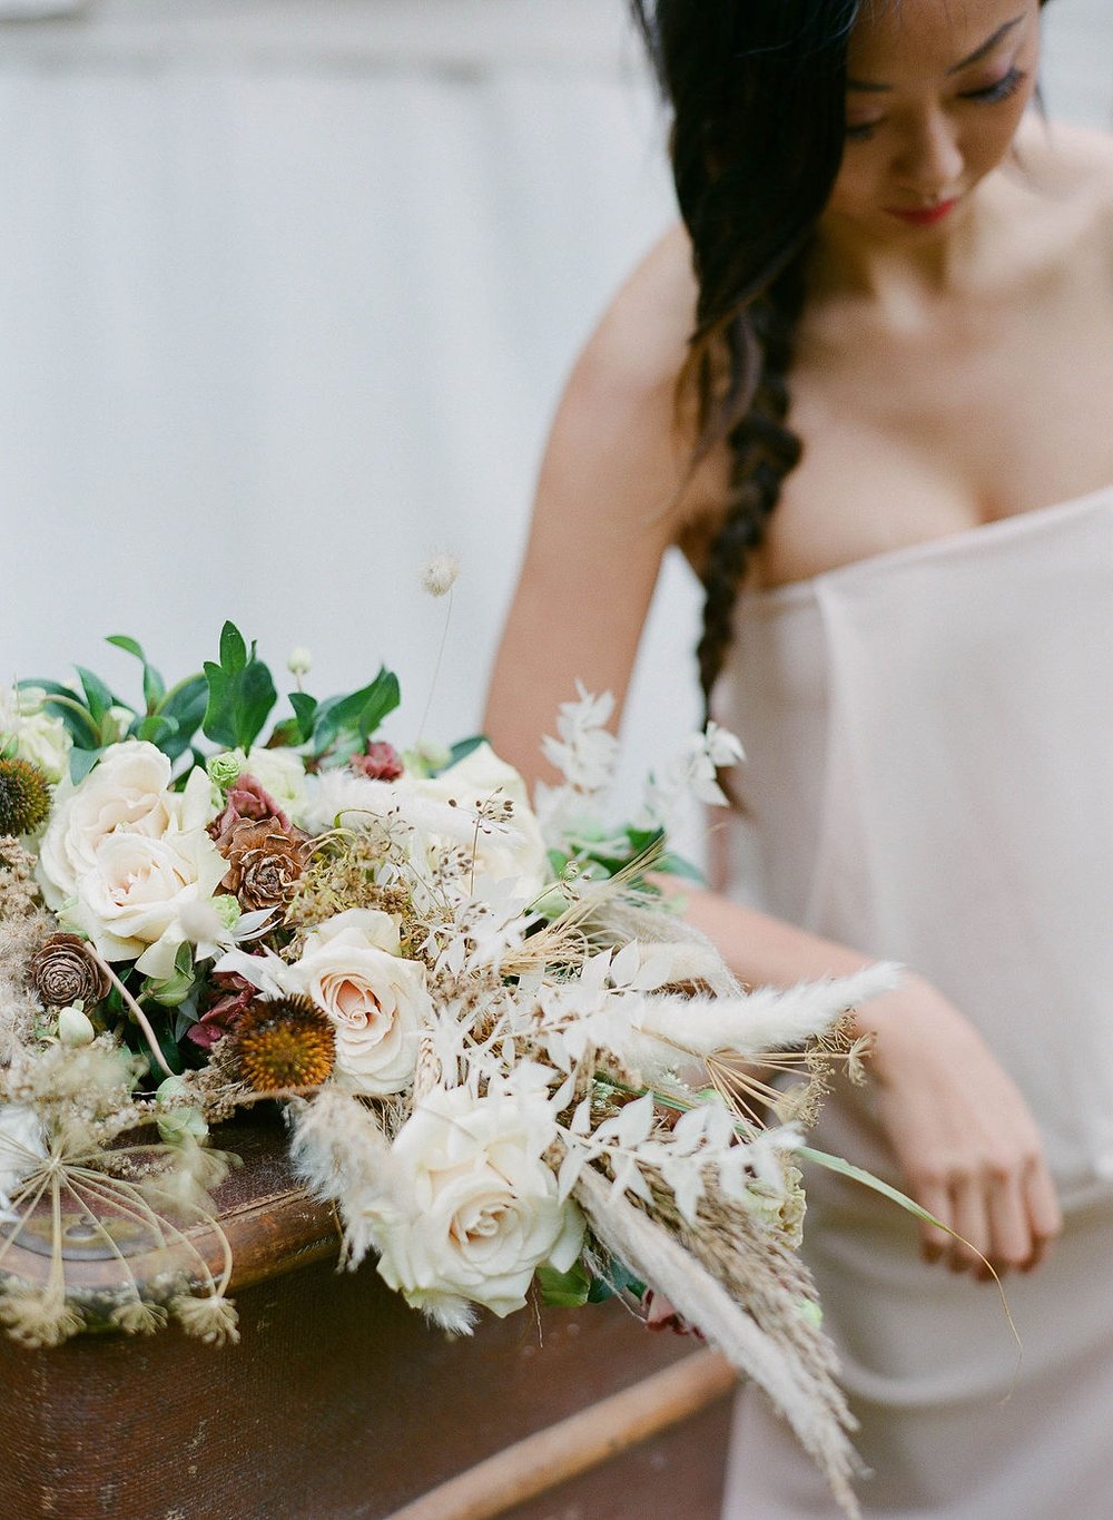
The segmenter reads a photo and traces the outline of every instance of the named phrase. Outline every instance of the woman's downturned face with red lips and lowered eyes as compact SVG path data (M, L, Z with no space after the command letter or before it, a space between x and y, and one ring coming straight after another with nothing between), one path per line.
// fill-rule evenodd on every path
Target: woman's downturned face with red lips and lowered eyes
M1036 87L1039 0L881 0L847 53L846 154L825 219L929 239L1008 152Z

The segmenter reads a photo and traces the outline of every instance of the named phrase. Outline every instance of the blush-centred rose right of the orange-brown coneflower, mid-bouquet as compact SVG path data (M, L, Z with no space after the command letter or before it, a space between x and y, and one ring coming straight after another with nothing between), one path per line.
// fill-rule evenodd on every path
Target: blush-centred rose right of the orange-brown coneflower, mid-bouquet
M386 1097L413 1079L418 1037L433 1021L425 967L399 955L389 914L349 907L305 938L285 982L336 1028L336 1070L358 1093Z

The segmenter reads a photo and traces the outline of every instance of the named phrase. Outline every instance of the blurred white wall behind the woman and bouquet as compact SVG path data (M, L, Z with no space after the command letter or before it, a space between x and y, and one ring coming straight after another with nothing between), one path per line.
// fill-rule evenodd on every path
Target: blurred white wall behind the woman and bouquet
M1113 125L1111 0L1046 14L1049 112ZM475 730L548 420L673 217L624 0L0 0L0 678L134 693L235 619L308 689ZM627 772L692 727L667 564ZM575 585L556 616L575 616ZM571 693L569 693L571 695ZM408 719L408 727L407 727Z

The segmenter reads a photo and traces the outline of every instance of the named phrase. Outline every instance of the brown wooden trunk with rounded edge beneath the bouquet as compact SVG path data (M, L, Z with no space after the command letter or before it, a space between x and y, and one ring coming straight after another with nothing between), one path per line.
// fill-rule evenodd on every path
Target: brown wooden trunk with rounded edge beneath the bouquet
M333 1213L293 1181L276 1123L217 1140L243 1158L217 1195L240 1344L0 1338L5 1520L718 1514L732 1377L714 1353L616 1303L448 1341L370 1265L337 1274ZM82 1234L67 1272L96 1300L120 1268ZM196 1243L216 1265L216 1237ZM140 1280L164 1265L126 1248ZM24 1236L5 1266L39 1277L46 1249Z

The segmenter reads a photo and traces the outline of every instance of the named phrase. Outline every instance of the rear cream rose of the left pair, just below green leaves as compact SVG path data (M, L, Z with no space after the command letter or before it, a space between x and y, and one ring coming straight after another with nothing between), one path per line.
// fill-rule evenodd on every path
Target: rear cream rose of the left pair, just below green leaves
M62 781L43 836L38 879L49 907L77 894L77 882L96 869L100 842L126 831L161 839L172 830L199 828L213 816L203 771L190 774L185 790L170 790L170 762L155 745L137 739L111 745L76 786Z

